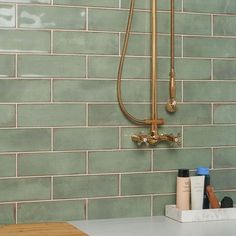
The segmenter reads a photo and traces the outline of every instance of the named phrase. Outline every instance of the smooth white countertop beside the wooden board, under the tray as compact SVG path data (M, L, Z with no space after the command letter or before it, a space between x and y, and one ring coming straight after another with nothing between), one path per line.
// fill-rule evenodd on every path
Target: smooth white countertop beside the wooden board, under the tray
M69 223L89 236L236 236L236 220L179 223L155 216Z

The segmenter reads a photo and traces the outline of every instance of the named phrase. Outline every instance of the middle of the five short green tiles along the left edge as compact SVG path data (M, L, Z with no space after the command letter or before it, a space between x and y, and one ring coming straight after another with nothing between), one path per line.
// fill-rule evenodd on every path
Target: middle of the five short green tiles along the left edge
M16 126L15 105L0 105L0 127Z

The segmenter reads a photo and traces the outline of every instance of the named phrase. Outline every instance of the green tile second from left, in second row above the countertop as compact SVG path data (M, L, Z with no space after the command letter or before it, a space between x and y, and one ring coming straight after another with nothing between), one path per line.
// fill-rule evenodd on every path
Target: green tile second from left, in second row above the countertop
M118 176L55 177L54 198L102 197L118 194Z

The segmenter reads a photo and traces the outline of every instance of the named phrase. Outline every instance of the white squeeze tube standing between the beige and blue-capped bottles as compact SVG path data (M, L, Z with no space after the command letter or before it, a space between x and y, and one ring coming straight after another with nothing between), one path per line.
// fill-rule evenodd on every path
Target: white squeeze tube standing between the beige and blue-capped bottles
M191 176L191 209L201 210L203 207L205 176Z

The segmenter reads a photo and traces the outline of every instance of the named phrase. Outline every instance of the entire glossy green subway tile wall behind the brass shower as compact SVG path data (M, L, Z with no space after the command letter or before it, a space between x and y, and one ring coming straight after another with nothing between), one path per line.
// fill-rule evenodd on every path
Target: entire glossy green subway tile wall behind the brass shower
M236 201L236 1L175 0L178 110L165 111L170 1L158 0L160 133L121 113L116 77L129 0L0 0L0 224L163 215L179 168L211 169ZM123 100L150 113L150 0L136 0ZM38 214L35 215L37 211Z

